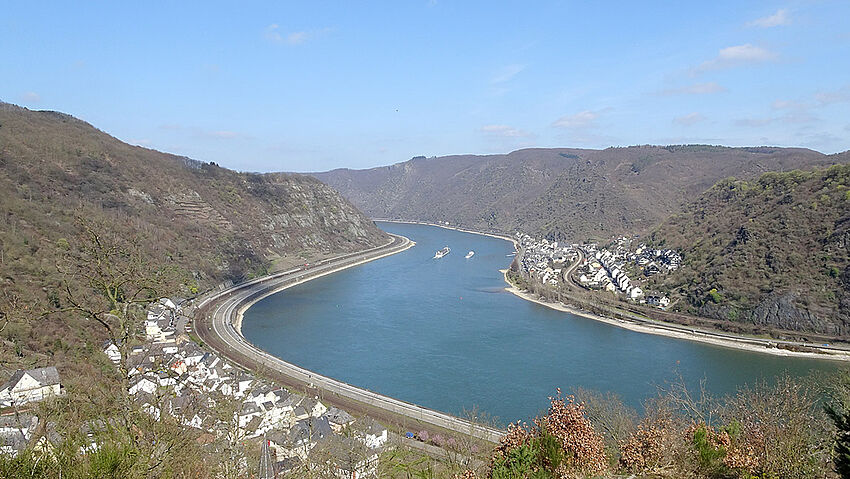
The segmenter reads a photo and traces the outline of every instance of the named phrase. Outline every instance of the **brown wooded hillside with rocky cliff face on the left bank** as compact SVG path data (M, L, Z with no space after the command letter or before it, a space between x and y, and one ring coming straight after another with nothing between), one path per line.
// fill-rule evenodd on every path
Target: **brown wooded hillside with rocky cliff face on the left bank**
M56 261L73 241L76 216L137 238L147 257L186 271L200 290L388 240L314 178L238 173L128 145L66 114L0 103L4 295L20 295L30 311L56 302ZM67 316L5 330L2 323L0 365L13 350L34 361L33 351L83 334Z

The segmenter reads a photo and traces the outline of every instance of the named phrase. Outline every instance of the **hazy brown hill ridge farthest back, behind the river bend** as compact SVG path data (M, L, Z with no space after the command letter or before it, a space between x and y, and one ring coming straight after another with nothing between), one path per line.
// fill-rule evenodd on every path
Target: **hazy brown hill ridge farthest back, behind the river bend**
M649 232L723 178L836 161L846 159L802 148L556 148L418 157L313 176L373 217L582 241Z

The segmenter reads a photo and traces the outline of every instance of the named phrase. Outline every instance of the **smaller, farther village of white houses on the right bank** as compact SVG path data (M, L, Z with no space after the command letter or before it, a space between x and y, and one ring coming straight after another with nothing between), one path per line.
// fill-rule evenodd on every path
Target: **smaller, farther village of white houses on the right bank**
M659 309L667 308L670 298L663 292L647 292L641 285L645 278L673 272L682 264L677 251L651 248L624 236L605 246L559 244L524 233L515 238L522 251L520 271L541 284L557 288L572 280L585 289L607 291ZM579 258L575 268L569 269ZM572 278L566 277L568 273Z

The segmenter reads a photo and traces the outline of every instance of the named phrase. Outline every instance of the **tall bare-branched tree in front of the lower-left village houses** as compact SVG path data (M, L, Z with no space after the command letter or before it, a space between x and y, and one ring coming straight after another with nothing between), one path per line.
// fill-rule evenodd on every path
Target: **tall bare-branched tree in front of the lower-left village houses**
M138 340L146 305L177 291L180 285L177 271L167 265L165 258L144 255L138 237L120 236L113 225L99 220L78 216L76 221L78 234L57 264L63 276L66 306L45 314L81 315L102 326L118 346L120 390L115 394L117 397L104 403L110 407L102 414L111 415L120 426L122 437L115 440L126 441L128 450L137 454L137 465L153 474L169 467L169 458L185 442L178 437L182 427L151 421L146 412L134 407L129 394L128 358L133 343Z

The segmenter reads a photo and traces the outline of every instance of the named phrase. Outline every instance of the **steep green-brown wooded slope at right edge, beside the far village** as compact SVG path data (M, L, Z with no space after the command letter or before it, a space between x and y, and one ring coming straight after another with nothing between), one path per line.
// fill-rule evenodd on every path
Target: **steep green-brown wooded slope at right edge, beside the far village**
M721 181L651 240L683 252L683 267L660 284L681 295L680 309L850 335L848 165Z

